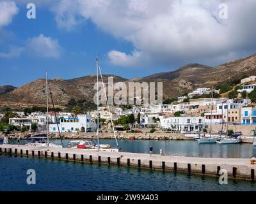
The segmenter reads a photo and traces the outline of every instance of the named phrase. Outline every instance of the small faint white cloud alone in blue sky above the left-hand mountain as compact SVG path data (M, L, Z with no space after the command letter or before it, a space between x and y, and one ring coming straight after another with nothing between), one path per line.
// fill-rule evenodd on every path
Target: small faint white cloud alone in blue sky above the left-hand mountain
M29 38L26 48L27 52L30 54L36 54L40 57L53 58L60 57L62 50L58 40L54 40L51 37L46 37L44 34L40 34L34 38Z

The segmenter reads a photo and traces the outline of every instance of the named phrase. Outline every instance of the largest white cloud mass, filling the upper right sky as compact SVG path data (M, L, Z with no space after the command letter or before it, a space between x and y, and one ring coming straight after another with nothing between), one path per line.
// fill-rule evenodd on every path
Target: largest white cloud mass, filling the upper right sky
M227 19L218 16L220 3L227 3ZM70 29L83 17L106 33L130 41L132 54L112 50L108 57L115 65L131 67L212 59L216 64L255 52L255 9L253 0L63 0L54 6L60 26L66 22Z

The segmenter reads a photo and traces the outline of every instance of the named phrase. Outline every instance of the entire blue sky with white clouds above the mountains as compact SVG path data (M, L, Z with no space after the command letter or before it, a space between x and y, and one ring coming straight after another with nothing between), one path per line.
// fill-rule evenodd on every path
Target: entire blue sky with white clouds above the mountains
M28 3L36 16L27 17ZM217 66L256 53L254 0L0 0L0 85Z

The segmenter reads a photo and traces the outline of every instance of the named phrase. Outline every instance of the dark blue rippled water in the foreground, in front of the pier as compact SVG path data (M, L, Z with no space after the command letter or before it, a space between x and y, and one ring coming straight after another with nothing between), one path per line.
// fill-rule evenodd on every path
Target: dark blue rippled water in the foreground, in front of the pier
M255 191L255 182L124 166L0 155L0 191ZM29 169L36 184L28 185Z

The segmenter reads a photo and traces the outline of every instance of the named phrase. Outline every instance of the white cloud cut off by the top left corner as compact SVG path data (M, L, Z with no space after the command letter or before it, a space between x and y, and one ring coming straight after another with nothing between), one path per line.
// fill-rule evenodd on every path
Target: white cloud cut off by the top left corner
M19 12L15 2L0 1L0 28L9 25L12 18Z

